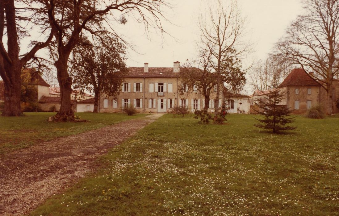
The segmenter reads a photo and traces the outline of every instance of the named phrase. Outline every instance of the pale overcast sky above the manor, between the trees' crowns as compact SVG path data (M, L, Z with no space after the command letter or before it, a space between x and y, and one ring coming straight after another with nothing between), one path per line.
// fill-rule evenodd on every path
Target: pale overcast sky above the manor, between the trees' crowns
M136 50L129 52L128 66L171 67L174 61L184 62L195 56L195 41L199 40L197 18L205 9L206 0L176 0L169 19L176 24L165 23L165 30L172 37L151 35L147 39L143 30L133 22L120 26L127 40ZM246 39L254 44L247 62L265 59L275 42L283 36L286 27L301 13L298 0L238 0L241 13L247 20Z

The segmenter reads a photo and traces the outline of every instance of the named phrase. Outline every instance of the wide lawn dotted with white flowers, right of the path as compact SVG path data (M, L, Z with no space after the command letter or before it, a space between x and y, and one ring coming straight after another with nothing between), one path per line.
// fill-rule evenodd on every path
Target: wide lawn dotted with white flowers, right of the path
M339 118L270 134L252 115L164 115L32 215L338 215Z

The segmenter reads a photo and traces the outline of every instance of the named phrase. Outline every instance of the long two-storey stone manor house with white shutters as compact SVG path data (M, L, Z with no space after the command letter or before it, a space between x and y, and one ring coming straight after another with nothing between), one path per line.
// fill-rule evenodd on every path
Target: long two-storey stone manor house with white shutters
M99 112L121 112L123 107L134 106L137 112L167 112L174 106L184 106L190 111L201 110L204 107L204 96L197 89L183 94L179 92L179 86L184 84L179 79L180 62L174 62L172 67L129 67L121 92L115 100L113 97L101 95L99 99ZM230 113L248 113L248 96L238 95L236 98L224 97L220 91L219 106L222 100L226 100ZM211 92L211 100L208 106L209 112L215 110L216 89ZM89 104L84 104L84 106Z

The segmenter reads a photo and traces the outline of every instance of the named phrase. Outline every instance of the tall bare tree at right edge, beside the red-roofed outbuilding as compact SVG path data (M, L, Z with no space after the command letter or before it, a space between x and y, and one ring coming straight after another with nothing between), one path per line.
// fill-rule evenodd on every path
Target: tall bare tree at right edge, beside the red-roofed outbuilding
M327 114L333 113L333 78L339 71L339 2L303 0L305 13L298 16L277 44L281 55L315 72L327 92Z

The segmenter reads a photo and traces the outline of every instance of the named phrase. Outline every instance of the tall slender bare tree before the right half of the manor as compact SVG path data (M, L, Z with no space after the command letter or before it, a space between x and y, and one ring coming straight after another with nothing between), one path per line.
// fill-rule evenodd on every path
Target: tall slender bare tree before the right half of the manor
M220 90L223 87L222 73L228 69L223 63L229 59L239 58L248 50L241 37L244 35L245 20L240 15L236 1L218 0L201 15L199 25L202 33L202 44L211 52L211 66L217 74L217 99L219 106Z

